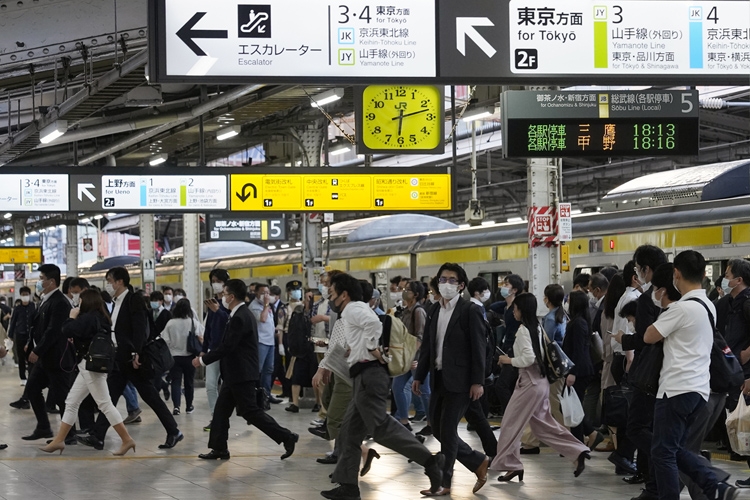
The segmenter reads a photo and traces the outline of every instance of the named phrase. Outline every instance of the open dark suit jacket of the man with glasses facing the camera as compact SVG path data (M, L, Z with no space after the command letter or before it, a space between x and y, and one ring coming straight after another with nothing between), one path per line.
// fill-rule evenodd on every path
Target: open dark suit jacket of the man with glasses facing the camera
M440 304L430 309L425 325L419 363L414 380L424 382L429 371L430 385L435 387L437 359L437 322ZM442 380L448 392L469 392L474 384L484 384L484 360L487 349L482 309L459 297L443 341Z

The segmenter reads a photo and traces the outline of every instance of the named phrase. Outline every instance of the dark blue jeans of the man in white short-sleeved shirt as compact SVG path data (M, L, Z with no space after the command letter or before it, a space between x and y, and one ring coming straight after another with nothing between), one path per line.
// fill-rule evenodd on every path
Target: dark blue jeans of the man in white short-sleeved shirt
M685 448L690 426L705 406L697 392L656 400L651 457L659 500L679 500L678 471L692 478L707 498L716 497L716 474L703 457Z

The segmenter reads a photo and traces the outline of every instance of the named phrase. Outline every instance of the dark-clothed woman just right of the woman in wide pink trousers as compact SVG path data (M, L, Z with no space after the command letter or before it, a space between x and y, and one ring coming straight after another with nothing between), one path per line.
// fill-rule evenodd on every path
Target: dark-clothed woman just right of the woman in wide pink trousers
M591 382L591 377L595 375L594 365L591 362L589 298L584 292L570 292L568 304L570 321L565 329L562 348L570 360L575 363L575 366L566 377L565 385L573 388L578 395L578 399L581 400L581 404L583 404L586 387ZM594 449L603 439L603 436L594 429L588 416L584 416L583 421L570 431L582 443L589 444L591 449ZM584 441L584 436L586 436L587 441Z

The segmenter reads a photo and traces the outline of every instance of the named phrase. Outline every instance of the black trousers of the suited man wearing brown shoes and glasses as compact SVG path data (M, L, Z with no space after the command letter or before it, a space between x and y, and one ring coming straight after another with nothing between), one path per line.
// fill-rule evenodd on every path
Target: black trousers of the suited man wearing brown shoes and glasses
M442 371L436 370L433 374L435 375L435 389L430 398L430 425L433 435L440 441L440 451L445 455L443 487L450 488L456 460L469 471L475 472L482 465L485 455L472 450L458 436L458 423L471 403L469 391L448 392L443 384ZM495 447L497 448L497 444Z

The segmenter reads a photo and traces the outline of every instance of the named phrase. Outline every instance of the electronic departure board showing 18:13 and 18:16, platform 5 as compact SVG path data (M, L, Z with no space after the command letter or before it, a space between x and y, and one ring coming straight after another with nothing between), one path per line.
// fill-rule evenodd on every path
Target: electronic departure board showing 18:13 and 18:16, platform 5
M506 157L698 154L698 92L508 91Z

